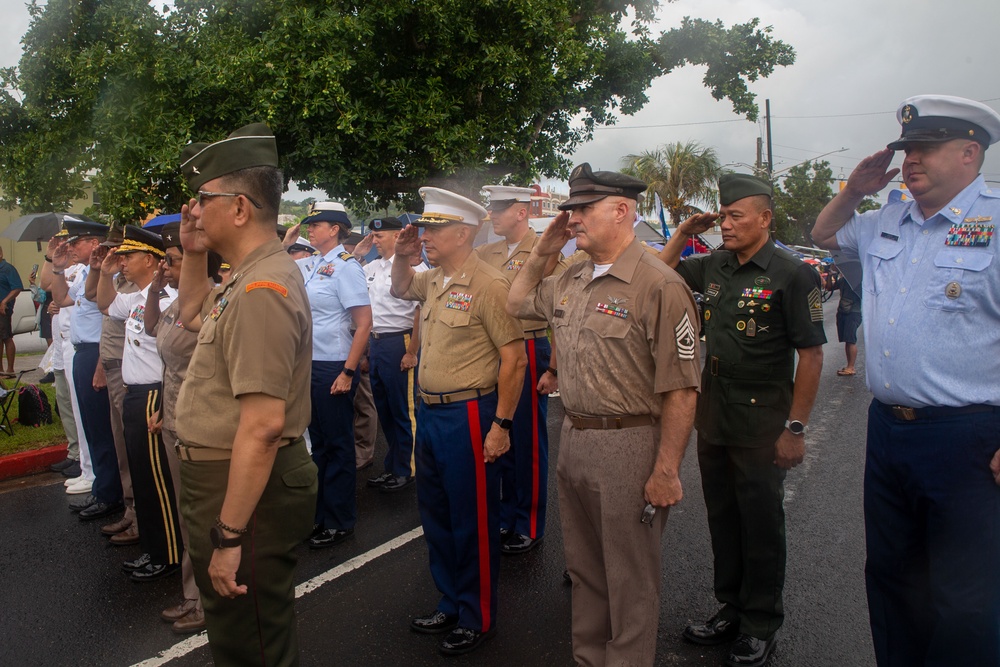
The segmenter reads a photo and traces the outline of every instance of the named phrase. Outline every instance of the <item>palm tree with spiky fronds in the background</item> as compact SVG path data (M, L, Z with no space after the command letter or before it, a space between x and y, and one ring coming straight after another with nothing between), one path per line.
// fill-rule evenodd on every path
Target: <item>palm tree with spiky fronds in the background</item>
M722 175L722 165L714 148L696 141L665 144L638 155L626 155L623 172L649 184L646 198L640 205L644 214L654 208L654 197L660 195L674 226L681 218L698 210L695 203L715 208L716 185Z

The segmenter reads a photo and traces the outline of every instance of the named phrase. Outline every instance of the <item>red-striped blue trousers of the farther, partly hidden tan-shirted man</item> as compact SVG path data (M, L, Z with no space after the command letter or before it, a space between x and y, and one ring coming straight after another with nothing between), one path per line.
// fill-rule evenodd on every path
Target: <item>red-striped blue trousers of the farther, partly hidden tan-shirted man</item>
M549 485L549 397L538 393L538 378L549 367L548 338L526 338L528 368L514 411L510 451L500 457L500 527L538 539L545 534Z

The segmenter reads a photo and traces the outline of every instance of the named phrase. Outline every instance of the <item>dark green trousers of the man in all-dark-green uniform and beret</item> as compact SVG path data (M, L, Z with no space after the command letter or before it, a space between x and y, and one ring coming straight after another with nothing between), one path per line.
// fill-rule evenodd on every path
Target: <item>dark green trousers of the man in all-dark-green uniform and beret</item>
M784 620L785 471L774 447L698 438L701 486L715 557L715 597L740 632L769 639Z

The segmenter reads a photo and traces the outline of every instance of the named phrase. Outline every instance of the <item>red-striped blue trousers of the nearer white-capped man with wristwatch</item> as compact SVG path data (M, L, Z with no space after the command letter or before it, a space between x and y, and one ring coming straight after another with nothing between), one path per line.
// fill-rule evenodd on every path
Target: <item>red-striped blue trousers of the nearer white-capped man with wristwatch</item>
M493 392L417 412L417 506L438 611L480 632L496 624L500 577L500 467L483 460L496 408Z

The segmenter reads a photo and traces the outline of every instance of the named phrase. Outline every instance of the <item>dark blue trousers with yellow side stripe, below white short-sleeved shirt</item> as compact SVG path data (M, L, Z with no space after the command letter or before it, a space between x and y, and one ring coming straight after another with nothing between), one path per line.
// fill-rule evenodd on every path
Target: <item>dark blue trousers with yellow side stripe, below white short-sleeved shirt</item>
M372 396L388 451L385 472L412 477L413 429L416 424L416 369L399 370L410 334L372 338L369 346Z

